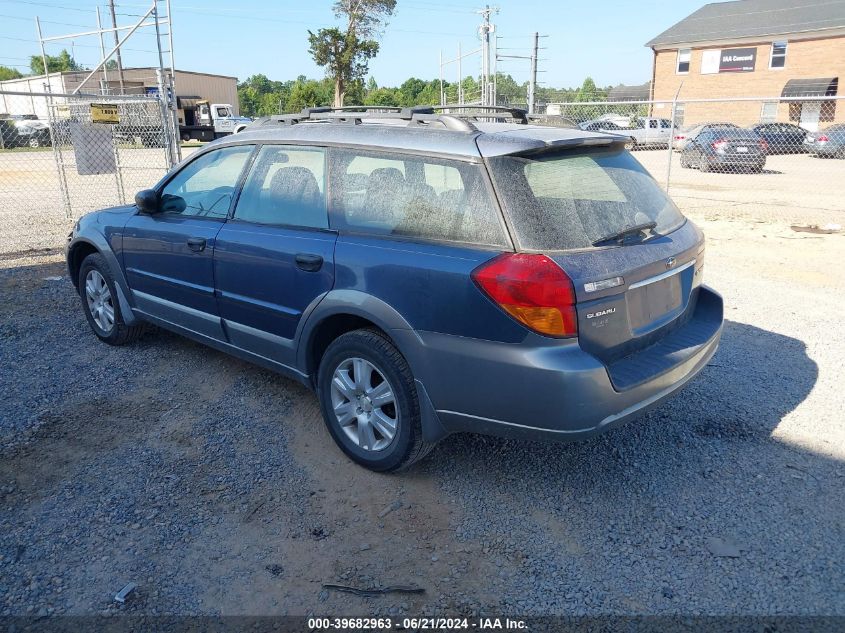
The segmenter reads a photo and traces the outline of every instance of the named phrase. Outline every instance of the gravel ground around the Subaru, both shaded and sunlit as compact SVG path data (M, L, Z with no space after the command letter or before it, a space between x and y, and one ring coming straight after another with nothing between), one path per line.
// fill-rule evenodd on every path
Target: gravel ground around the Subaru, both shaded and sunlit
M699 220L727 320L683 395L394 476L306 389L166 332L103 345L59 253L4 256L0 614L845 615L845 236Z

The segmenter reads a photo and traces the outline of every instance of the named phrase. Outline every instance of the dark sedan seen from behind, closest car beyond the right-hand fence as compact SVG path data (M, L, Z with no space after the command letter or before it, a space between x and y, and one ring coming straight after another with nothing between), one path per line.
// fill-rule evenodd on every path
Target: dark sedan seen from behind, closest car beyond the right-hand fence
M722 128L701 132L681 152L681 167L700 171L761 172L766 164L766 150L759 136L740 128Z

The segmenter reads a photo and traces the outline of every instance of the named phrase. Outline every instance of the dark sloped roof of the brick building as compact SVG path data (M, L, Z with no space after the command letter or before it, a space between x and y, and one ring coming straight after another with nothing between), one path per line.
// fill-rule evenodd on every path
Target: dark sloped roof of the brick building
M735 0L704 5L646 46L731 42L837 28L845 28L845 0Z

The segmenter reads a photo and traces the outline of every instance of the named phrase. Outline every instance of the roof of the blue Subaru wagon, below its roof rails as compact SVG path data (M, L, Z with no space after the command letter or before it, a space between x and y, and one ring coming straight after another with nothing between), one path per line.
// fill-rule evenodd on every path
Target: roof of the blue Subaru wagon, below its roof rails
M355 123L331 120L295 125L263 125L223 137L215 144L289 142L370 147L399 152L478 158L539 151L549 147L607 145L619 137L580 129L520 123L473 121L472 129L455 130L399 119L363 118Z

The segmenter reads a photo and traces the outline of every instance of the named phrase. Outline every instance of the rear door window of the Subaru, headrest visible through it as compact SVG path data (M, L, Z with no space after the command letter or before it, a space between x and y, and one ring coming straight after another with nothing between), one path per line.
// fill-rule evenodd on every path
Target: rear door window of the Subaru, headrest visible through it
M235 219L257 224L328 228L325 150L265 145L235 208Z

